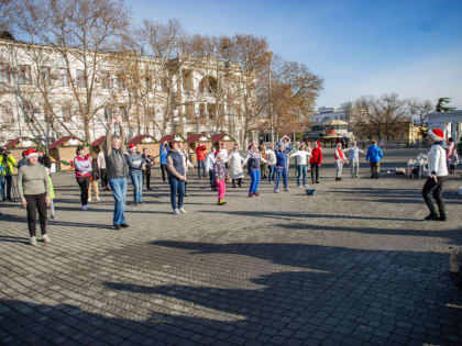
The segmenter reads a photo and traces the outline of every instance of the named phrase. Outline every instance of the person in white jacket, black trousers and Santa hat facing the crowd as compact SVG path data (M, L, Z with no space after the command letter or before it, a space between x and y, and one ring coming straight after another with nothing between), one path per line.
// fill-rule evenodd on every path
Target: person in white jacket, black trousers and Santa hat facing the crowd
M433 129L428 132L431 138L431 149L428 155L428 168L430 176L427 178L427 181L422 188L422 197L430 214L425 217L427 221L446 221L446 209L444 201L441 197L442 187L448 177L448 166L446 160L446 145L444 145L444 134L440 129ZM435 208L435 204L430 196L433 196L433 199L437 201L439 215Z

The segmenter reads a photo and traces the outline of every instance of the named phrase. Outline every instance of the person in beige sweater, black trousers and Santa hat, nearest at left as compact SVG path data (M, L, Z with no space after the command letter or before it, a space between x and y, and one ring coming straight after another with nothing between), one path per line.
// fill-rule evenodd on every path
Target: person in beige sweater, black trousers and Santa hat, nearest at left
M21 204L28 211L29 234L31 245L36 245L36 212L38 211L42 239L50 243L46 234L46 207L50 205L50 180L46 168L38 163L38 154L34 149L25 152L28 160L18 171L18 192Z

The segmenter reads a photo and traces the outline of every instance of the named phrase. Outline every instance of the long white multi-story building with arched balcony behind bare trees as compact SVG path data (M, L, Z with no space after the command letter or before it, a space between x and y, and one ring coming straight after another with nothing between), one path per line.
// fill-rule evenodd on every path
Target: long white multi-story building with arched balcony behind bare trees
M224 132L243 142L253 85L229 62L158 60L0 40L0 144L66 135L90 143L106 134L116 114L129 137Z

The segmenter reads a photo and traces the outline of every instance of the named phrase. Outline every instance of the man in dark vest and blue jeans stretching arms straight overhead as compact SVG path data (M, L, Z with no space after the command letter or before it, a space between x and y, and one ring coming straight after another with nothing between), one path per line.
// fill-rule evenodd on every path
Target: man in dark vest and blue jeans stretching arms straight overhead
M120 136L113 135L112 130L118 123ZM127 202L127 176L129 175L129 165L127 163L124 147L124 130L122 119L114 116L108 125L105 145L106 168L108 170L108 181L114 198L113 228L127 228L125 222L125 202Z

